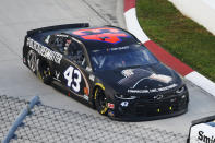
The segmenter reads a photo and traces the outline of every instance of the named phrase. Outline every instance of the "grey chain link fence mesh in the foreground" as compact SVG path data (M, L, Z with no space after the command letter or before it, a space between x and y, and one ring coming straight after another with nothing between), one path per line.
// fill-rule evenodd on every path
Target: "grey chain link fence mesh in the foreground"
M28 102L5 95L0 96L0 140L19 112ZM15 131L11 143L64 143L64 142L135 142L135 143L184 143L187 135L165 130L138 126L135 122L119 122L71 110L35 105L31 115Z

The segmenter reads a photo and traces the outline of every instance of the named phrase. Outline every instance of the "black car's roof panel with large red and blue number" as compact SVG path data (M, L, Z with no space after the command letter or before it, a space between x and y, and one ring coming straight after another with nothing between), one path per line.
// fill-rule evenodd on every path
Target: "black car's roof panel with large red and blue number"
M72 28L62 33L81 40L87 50L123 47L139 41L129 32L114 26Z

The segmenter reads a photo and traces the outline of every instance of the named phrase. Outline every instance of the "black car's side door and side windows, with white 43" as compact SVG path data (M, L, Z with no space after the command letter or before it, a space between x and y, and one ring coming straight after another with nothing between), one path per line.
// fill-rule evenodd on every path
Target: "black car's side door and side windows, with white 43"
M64 86L69 93L88 100L91 85L88 83L89 62L84 45L69 35L50 37L52 49L63 55L60 64L55 64L53 79Z

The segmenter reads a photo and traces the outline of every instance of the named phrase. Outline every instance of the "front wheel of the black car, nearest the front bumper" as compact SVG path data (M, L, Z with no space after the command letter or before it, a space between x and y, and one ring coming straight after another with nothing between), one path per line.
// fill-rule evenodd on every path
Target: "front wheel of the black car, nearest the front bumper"
M97 111L100 115L107 115L108 108L107 108L107 98L105 95L105 91L101 90L100 87L97 87L95 90L94 99L95 99L95 106Z

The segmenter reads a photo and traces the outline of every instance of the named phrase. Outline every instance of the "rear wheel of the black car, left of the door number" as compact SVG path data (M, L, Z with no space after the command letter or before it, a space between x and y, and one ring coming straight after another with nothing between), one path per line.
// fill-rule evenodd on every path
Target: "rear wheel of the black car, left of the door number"
M45 84L50 84L51 72L49 64L40 59L37 60L37 64L38 64L37 75Z

